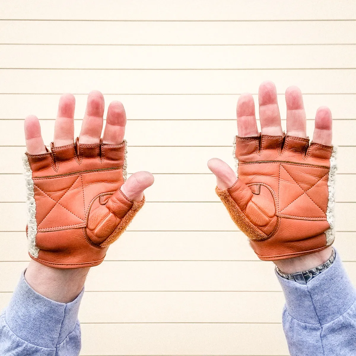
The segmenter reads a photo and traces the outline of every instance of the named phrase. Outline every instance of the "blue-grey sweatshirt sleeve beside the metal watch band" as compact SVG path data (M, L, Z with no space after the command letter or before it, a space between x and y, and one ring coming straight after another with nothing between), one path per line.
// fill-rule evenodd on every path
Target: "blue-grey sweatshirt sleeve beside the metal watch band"
M356 290L337 252L333 265L305 285L277 277L291 356L356 355Z

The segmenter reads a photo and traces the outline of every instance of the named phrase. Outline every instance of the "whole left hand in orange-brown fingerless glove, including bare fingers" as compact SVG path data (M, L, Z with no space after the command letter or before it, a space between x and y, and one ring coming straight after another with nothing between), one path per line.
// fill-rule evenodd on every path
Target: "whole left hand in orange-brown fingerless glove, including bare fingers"
M143 191L153 184L149 172L137 172L124 183L126 115L120 102L109 105L100 140L104 98L92 91L75 144L74 106L73 95L61 96L53 154L46 150L37 117L25 119L36 204L36 221L28 224L30 256L56 268L101 263L108 245L143 205Z

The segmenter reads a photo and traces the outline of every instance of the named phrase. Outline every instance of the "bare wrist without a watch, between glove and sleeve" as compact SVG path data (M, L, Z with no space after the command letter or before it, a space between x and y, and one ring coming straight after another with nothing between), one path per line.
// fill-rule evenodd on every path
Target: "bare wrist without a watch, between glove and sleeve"
M59 269L31 260L25 279L30 287L48 299L72 302L82 291L90 267Z

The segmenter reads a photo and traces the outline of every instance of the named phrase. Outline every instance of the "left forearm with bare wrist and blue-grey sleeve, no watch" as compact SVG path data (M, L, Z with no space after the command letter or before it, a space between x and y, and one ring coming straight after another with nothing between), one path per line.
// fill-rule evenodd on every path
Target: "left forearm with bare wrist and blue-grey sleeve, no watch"
M78 310L88 270L31 261L1 314L0 354L79 355Z

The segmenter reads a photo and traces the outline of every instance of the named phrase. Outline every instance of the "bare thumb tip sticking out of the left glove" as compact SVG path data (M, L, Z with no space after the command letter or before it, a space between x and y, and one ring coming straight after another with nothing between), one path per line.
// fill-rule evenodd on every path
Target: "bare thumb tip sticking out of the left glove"
M143 191L151 187L154 181L155 178L150 172L136 172L121 185L121 192L130 200L141 201L143 199Z

